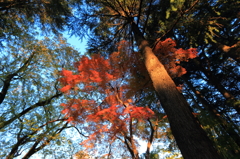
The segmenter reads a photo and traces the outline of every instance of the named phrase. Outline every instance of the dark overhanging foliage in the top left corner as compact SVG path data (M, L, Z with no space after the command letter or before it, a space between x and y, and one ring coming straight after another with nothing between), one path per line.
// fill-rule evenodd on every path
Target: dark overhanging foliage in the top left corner
M59 34L72 28L73 7L81 0L4 0L0 2L0 40L20 40L21 36Z

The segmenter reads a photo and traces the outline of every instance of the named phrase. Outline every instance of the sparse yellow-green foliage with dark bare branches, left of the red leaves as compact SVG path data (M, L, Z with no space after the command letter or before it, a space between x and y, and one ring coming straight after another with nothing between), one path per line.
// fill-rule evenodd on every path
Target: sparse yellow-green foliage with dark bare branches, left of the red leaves
M63 98L56 81L61 67L70 69L67 63L78 56L62 37L24 36L4 45L0 55L1 157L29 158L37 152L51 156L56 155L54 151L61 156L63 151L55 148L67 143L64 131L69 125L59 115L57 105ZM69 156L74 153L71 144L65 148Z

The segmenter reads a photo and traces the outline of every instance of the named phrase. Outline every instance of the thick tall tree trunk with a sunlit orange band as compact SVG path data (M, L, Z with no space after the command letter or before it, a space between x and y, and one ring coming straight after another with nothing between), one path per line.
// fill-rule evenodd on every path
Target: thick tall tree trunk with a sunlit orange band
M192 115L185 98L178 92L163 64L155 56L134 22L132 22L132 31L183 157L185 159L220 158L207 134Z

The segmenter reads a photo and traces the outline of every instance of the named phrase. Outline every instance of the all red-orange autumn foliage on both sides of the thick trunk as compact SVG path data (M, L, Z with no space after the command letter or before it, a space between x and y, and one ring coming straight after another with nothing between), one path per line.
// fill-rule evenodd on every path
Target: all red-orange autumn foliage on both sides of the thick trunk
M180 61L197 55L196 49L183 50L175 46L173 40L166 39L154 49L172 77L186 73ZM121 41L118 51L108 59L99 54L83 56L75 67L77 73L61 71L59 80L63 87L60 90L69 96L80 94L81 98L62 104L62 113L73 124L87 123L84 129L90 136L82 142L86 148L94 148L96 141L113 143L116 139L126 139L137 131L137 123L155 118L149 107L136 104L136 94L154 89L141 55L132 52L129 42Z

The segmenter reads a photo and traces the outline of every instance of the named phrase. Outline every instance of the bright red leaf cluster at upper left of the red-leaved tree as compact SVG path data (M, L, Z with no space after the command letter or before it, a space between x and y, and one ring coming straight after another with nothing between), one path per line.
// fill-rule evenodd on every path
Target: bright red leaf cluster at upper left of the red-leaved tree
M101 87L105 87L106 83L118 78L119 75L118 71L112 69L109 60L105 60L98 54L94 54L91 59L83 56L79 62L75 63L75 67L78 69L79 74L74 75L71 71L64 69L61 72L63 77L60 82L64 87L60 90L64 93L79 83L84 83L84 90L88 91L94 90L91 83L97 83Z

